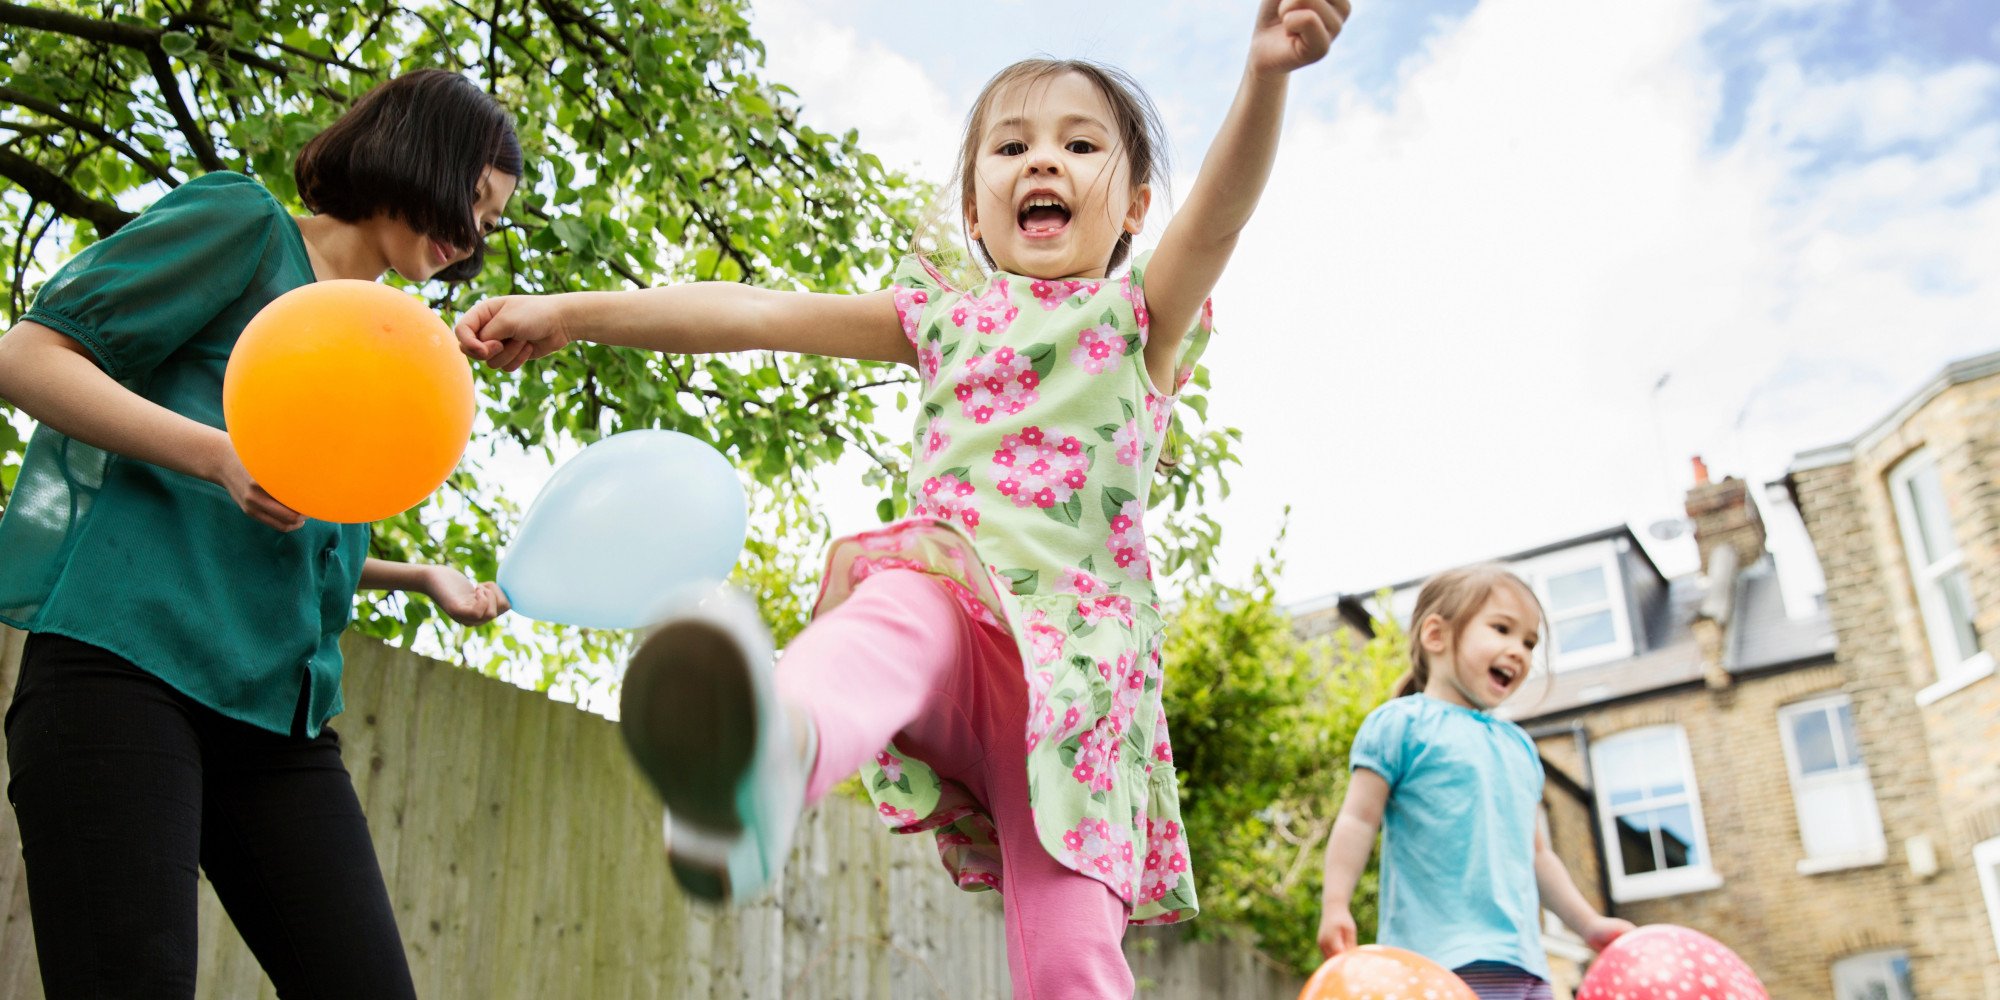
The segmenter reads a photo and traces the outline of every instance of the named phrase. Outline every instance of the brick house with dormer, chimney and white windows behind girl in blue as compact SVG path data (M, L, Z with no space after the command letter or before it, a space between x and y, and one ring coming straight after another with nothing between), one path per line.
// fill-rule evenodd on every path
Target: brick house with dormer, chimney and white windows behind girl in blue
M1698 572L1666 578L1624 526L1498 558L1550 616L1502 714L1540 746L1546 830L1592 904L1722 940L1774 998L2000 1000L1996 472L2000 354L1766 492L1796 504L1822 602L1788 606L1750 486L1700 462ZM1366 632L1420 584L1294 618ZM1574 990L1588 952L1548 926Z

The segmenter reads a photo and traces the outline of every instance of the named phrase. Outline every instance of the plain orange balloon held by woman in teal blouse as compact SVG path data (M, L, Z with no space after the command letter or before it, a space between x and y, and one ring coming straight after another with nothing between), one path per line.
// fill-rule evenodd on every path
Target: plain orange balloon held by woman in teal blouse
M264 306L230 350L222 422L250 478L308 518L420 504L472 438L472 366L416 296L326 280Z

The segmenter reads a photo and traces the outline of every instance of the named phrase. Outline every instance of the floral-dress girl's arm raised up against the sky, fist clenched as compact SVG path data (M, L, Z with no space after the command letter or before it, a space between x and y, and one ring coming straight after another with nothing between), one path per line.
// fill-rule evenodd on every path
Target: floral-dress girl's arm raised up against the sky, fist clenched
M1154 384L1172 384L1162 376L1172 376L1182 336L1222 278L1236 238L1264 196L1278 154L1290 72L1326 56L1350 10L1352 0L1260 4L1236 102L1208 146L1188 202L1166 226L1146 270L1146 308L1152 312L1146 368Z

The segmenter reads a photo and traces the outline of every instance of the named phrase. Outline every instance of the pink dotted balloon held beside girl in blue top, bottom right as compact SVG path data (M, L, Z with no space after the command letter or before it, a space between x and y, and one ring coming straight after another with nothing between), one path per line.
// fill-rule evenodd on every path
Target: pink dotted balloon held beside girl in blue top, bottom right
M1614 940L1576 1000L1770 1000L1756 972L1698 930L1648 924Z

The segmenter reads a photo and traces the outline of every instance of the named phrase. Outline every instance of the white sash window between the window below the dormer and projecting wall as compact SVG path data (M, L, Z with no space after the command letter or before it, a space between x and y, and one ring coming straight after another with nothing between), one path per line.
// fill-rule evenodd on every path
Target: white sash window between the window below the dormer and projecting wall
M1802 874L1878 864L1888 856L1874 782L1854 738L1854 708L1846 694L1812 698L1778 710L1784 762L1792 772Z

